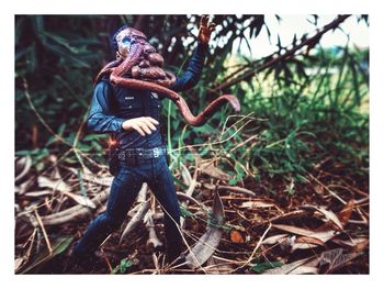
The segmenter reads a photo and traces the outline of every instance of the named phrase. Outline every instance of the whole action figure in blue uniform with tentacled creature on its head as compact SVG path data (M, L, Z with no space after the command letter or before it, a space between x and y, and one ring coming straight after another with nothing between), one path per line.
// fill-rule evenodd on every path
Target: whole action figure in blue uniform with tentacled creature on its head
M159 132L160 100L167 97L174 101L191 125L204 124L227 101L239 111L238 100L227 95L193 116L187 102L176 92L190 89L199 81L214 30L215 24L208 24L208 18L202 16L197 47L181 77L161 68L163 58L140 31L124 25L113 35L116 60L97 77L88 129L113 135L117 143L117 167L112 171L115 177L106 210L92 221L76 244L72 252L76 258L93 256L105 237L121 226L143 182L151 188L165 213L167 260L172 262L183 251L179 202Z

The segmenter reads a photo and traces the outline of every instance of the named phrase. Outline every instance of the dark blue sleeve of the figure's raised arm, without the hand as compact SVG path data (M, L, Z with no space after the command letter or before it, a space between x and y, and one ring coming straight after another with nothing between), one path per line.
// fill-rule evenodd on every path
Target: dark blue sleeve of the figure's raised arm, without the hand
M182 76L177 77L174 85L171 86L170 89L174 91L184 91L197 84L203 70L207 51L207 44L204 45L199 43L190 59L187 71Z

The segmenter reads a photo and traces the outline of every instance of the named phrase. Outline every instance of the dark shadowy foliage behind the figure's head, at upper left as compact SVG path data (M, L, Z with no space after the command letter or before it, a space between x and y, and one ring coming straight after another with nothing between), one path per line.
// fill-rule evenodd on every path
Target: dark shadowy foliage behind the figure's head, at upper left
M181 73L196 46L196 30L200 18L195 15L16 15L15 16L15 138L16 152L35 147L64 152L68 147L56 140L36 119L31 110L23 87L26 79L32 102L46 124L69 143L75 141L77 131L84 121L83 115L92 96L92 81L102 66L113 59L109 48L110 34L126 23L148 34L149 41L163 55L168 68ZM262 15L218 15L213 19L224 30L217 32L217 40L228 35L224 48L215 43L208 65L223 69L227 53L236 38L244 38L244 31L250 30L256 37L262 25ZM247 30L247 31L248 31ZM184 40L188 44L184 45ZM213 81L214 74L205 74ZM205 95L205 88L193 91ZM193 92L184 95L194 112L206 102ZM202 95L201 95L202 96ZM199 105L197 105L199 104ZM167 107L167 105L165 105ZM167 115L167 110L165 114ZM172 108L169 130L173 140L179 138L182 125ZM101 155L106 136L77 140L76 146L87 154ZM193 137L185 135L185 137ZM203 138L200 138L204 142ZM76 157L71 155L72 160ZM100 160L100 159L99 159Z

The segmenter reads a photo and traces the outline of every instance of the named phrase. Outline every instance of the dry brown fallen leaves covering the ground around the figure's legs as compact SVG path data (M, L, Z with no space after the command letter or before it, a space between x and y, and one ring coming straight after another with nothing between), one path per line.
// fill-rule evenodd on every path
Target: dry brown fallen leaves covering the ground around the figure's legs
M52 225L60 229L74 222L82 222L83 225L83 221L89 220L84 216L102 212L112 182L106 174L80 173L68 167L64 167L64 170L55 168L33 178L26 162L19 163L18 171L29 173L22 174L15 187L16 197L20 198L15 210L16 220L22 224L20 231L23 231L23 225L32 224L34 233L26 231L24 235L31 236L30 240L23 238L23 244L18 247L16 273L23 273L34 264L35 267L29 270L38 271L39 264L48 263L56 254L57 238L50 234ZM262 190L258 187L228 186L226 173L217 170L215 162L201 166L205 160L200 159L193 175L184 164L176 174L179 181L185 185L179 188L184 191L178 192L185 225L180 230L189 248L184 264L189 269L184 271L334 274L349 270L353 263L366 259L369 198L348 200L340 194L346 202L337 202L337 205L329 201L332 198L329 193L316 194L320 200L317 203L312 202L309 196L304 201L300 196L281 201L279 196L261 194ZM211 178L204 179L206 176ZM315 186L326 189L317 182ZM163 213L154 198L143 196L129 211L129 222L121 235L122 241L137 224L145 224L140 230L146 230L148 234L137 238L132 233L129 236L135 236L135 245L124 248L136 252L140 262L145 256L143 252L161 247L163 241L163 231L157 230L159 225L162 226ZM38 212L39 222L34 212ZM360 231L354 231L357 226ZM113 242L117 244L118 233L111 240L114 241L105 242L106 246ZM52 254L49 251L45 255L43 251L36 251L38 242L43 248L49 242ZM121 242L121 246L125 245L125 242ZM150 255L150 264L157 274L177 270L165 266L162 257L156 251ZM109 263L110 270L120 264L110 257ZM133 270L137 270L136 265L128 267L126 273Z

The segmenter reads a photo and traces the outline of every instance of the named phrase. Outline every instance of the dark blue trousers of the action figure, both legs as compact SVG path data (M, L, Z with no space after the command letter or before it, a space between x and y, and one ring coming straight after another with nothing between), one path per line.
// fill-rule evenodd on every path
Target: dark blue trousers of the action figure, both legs
M120 229L143 182L148 184L163 210L167 255L176 258L181 253L182 238L177 226L180 224L180 208L172 175L166 156L162 155L138 159L135 166L121 163L118 174L112 182L106 211L88 226L74 248L75 256L92 255L109 234Z

